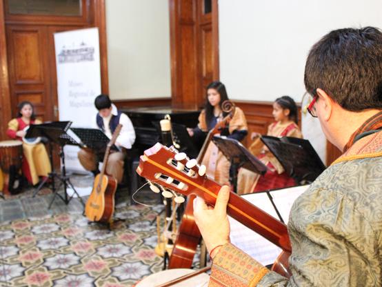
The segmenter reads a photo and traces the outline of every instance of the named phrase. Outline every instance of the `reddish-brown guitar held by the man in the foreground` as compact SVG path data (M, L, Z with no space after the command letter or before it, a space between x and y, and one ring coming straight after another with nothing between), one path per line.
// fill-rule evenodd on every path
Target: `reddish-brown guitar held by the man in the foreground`
M207 176L199 175L198 165L190 161L183 152L179 153L161 143L145 150L140 158L137 173L149 181L153 190L158 190L159 185L162 190L168 192L178 192L185 196L197 195L210 206L214 206L221 188ZM272 270L290 277L288 257L292 249L287 226L234 192L230 193L227 213L283 249Z

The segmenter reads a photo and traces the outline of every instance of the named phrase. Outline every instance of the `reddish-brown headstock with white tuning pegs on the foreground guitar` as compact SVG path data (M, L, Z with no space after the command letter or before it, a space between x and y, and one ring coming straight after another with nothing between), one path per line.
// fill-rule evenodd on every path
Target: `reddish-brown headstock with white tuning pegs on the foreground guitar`
M199 166L196 159L189 159L185 153L161 143L145 150L139 160L137 173L149 181L152 191L162 191L164 197L174 195L175 201L176 193L185 196L195 194L214 204L221 188L205 175L205 166Z

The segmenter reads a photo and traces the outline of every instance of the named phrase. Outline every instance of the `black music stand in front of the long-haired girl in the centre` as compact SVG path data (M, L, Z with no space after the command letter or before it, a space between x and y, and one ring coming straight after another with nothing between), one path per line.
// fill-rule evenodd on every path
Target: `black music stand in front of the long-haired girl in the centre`
M234 187L234 192L237 193L237 173L239 168L243 167L260 175L264 175L267 171L268 168L236 139L215 136L212 137L212 141L231 163L230 183Z

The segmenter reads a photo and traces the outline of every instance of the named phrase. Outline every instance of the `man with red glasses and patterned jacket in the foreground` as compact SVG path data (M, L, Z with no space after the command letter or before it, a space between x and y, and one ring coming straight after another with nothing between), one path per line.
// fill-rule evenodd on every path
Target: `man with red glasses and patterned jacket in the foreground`
M381 286L382 33L334 30L305 65L309 111L343 155L292 206L292 277L271 272L229 243L228 187L215 208L194 201L213 259L210 286Z

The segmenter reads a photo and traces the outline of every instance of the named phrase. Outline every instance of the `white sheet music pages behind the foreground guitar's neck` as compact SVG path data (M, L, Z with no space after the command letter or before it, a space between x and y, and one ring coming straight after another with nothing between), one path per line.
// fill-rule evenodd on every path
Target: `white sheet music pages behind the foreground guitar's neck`
M301 195L309 186L296 186L294 188L285 188L274 190L271 193L274 204L281 213L284 221L288 220L289 211L294 200ZM277 217L277 212L274 210L272 202L265 192L252 193L242 196L252 204L261 208L274 218ZM230 220L230 240L234 246L237 246L245 253L259 261L263 265L273 264L274 260L281 253L281 248L272 244L267 239L261 237L256 232L250 230L239 223L239 221L228 217Z

